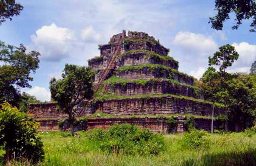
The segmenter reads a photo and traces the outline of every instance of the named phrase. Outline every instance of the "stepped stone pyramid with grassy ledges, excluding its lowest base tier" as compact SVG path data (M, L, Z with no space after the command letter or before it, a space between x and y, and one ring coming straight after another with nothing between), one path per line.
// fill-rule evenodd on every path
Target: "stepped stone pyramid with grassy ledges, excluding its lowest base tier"
M211 116L211 104L193 86L194 78L178 71L169 49L154 37L123 31L99 49L101 55L88 61L95 70L95 110L112 115ZM215 114L221 113L216 108Z

